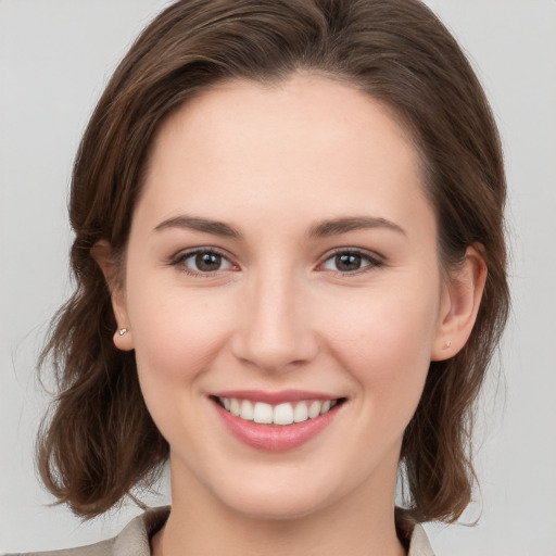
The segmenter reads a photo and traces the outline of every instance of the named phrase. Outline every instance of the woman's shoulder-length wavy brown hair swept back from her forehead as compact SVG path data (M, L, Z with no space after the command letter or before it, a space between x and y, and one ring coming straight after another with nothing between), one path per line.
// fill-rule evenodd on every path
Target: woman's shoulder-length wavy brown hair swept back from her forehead
M481 245L488 280L476 326L453 358L431 363L402 447L410 521L456 519L470 501L473 402L508 313L500 139L454 38L417 0L182 0L140 35L110 80L77 153L71 194L76 290L42 364L59 394L38 464L60 502L99 515L150 484L168 456L143 403L132 353L113 345L110 292L91 257L125 249L153 136L184 102L225 79L318 72L391 109L418 146L443 265Z

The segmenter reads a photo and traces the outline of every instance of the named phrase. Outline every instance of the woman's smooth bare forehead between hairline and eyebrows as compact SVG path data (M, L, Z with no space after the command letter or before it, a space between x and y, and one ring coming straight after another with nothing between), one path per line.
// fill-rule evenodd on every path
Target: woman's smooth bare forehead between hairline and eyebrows
M185 104L159 130L142 197L161 217L210 204L223 219L270 206L394 219L424 200L418 153L391 111L312 75L230 81Z

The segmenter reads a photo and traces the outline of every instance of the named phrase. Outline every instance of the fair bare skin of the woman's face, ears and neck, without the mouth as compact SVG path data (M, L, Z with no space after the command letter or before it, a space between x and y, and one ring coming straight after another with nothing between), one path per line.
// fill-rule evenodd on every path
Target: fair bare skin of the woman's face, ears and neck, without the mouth
M241 238L167 224L184 215ZM380 220L311 235L351 217ZM135 349L170 445L155 554L405 554L393 518L403 432L430 361L465 344L485 278L471 248L442 273L437 235L410 138L348 85L232 81L164 123L112 288L129 329L114 341ZM194 248L222 253L219 269L195 271ZM340 271L337 251L353 250L362 267ZM116 283L110 245L94 256ZM346 401L309 442L270 454L223 426L208 395L236 389Z

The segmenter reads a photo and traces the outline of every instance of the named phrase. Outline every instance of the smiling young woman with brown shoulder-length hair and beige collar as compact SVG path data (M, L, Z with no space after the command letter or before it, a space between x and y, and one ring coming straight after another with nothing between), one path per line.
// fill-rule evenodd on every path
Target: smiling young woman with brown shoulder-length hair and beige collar
M77 155L39 468L90 518L169 457L173 505L84 554L431 554L416 523L470 501L504 201L482 90L419 2L163 12Z

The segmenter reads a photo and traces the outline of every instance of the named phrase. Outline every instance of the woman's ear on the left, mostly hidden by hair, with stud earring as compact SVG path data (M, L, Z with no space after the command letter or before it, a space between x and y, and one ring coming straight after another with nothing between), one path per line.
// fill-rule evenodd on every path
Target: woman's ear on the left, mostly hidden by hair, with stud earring
M91 249L91 256L99 265L112 300L112 309L117 323L114 331L114 345L118 350L130 351L135 348L129 318L127 316L125 289L119 275L119 265L116 263L113 250L108 241L97 241Z

